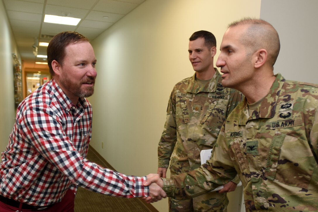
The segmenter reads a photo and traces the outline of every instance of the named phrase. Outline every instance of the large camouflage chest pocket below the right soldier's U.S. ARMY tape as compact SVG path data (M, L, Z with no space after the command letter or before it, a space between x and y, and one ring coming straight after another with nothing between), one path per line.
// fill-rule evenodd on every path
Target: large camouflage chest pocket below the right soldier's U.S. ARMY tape
M308 188L315 164L308 141L276 132L267 158L266 177L290 186Z

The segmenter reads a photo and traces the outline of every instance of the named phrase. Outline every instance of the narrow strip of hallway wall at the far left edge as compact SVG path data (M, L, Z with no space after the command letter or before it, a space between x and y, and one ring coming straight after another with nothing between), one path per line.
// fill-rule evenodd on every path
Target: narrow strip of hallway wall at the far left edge
M0 41L0 152L2 152L8 144L15 120L12 53L16 53L19 57L2 1L0 1Z

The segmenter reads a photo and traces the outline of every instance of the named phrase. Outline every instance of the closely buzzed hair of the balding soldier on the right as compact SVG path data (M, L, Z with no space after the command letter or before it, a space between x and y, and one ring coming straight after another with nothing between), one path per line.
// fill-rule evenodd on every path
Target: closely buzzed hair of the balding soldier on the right
M248 24L249 27L240 41L249 49L252 54L259 49L266 49L268 62L274 65L280 51L280 40L277 31L267 21L261 19L243 18L232 22L228 28Z

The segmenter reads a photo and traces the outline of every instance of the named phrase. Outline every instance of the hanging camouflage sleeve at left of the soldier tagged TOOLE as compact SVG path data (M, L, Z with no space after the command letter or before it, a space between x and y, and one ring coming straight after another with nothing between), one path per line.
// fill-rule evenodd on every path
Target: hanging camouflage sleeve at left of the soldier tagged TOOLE
M170 156L176 144L176 95L171 92L167 118L158 144L158 167L168 168Z

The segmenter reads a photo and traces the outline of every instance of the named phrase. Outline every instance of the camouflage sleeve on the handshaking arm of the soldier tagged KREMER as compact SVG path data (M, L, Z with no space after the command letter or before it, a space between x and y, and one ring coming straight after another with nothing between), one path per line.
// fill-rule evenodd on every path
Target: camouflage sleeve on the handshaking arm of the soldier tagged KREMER
M173 199L190 199L228 183L236 175L226 147L223 126L211 159L189 173L174 175L171 179L162 178L162 189Z

